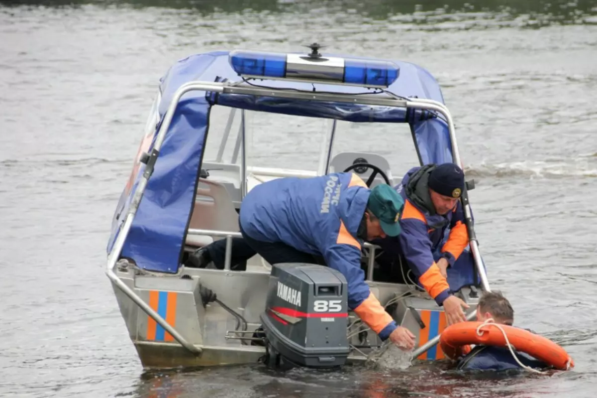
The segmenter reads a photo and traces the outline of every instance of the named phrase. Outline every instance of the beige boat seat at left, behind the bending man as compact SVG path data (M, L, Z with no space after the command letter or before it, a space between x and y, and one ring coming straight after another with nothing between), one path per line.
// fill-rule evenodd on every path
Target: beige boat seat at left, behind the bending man
M190 216L189 228L214 229L238 232L238 213L226 188L218 182L199 179L195 205ZM203 247L223 237L187 235L186 244Z

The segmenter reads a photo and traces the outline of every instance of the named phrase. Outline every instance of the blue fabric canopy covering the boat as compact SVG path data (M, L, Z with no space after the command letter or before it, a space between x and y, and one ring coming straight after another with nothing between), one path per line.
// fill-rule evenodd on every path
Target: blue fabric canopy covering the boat
M240 78L228 62L228 51L196 54L179 60L162 77L161 101L158 104L158 128L145 137L143 150L153 146L155 133L170 105L176 90L189 81L238 81ZM324 56L331 56L324 54ZM351 56L352 58L355 58ZM396 62L398 79L388 88L402 97L432 99L444 103L438 82L429 72L417 65ZM362 93L365 88L311 84L306 82L272 81L262 85L337 93ZM381 94L385 95L385 94ZM448 127L444 120L429 112L398 109L387 106L354 103L322 103L278 97L255 97L244 94L215 94L192 91L184 94L174 112L155 169L147 183L143 199L137 209L133 225L122 248L121 257L133 259L145 270L176 273L183 254L199 167L207 133L209 114L213 105L230 106L264 112L276 112L308 117L334 118L352 122L408 123L416 137L417 149L423 164L453 161ZM139 183L144 164L136 164L131 175L132 184L122 192L112 222L107 252L122 227L122 222Z

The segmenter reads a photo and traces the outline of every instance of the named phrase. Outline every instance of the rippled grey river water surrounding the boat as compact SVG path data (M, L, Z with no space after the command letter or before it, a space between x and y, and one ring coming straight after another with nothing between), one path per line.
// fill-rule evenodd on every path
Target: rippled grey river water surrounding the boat
M0 1L0 396L594 396L597 2L516 3ZM437 76L491 286L573 371L142 374L103 267L156 82L190 53L315 40Z

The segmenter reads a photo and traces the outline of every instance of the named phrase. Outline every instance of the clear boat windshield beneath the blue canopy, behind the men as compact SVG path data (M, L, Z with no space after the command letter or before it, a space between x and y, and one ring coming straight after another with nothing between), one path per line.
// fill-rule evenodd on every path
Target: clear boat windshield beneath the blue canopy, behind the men
M407 123L352 123L217 105L204 156L210 167L233 164L239 173L244 160L247 191L272 178L341 172L359 159L391 170L390 179L418 164Z

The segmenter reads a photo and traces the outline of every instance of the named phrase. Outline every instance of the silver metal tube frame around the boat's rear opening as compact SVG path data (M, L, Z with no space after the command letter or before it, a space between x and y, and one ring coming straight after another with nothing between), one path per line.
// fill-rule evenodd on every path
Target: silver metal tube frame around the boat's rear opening
M164 142L164 138L170 128L170 124L172 118L174 117L174 112L176 111L176 107L181 99L181 97L188 93L189 91L207 91L207 92L214 92L214 93L230 93L230 94L246 94L252 96L267 96L267 97L279 97L279 98L288 98L288 99L301 99L301 100L310 100L310 101L321 101L321 102L344 102L344 103L359 103L364 105L381 105L381 106L392 106L395 108L412 108L412 109L426 109L427 111L435 111L445 117L445 121L448 123L448 130L450 131L450 140L452 143L452 155L454 159L454 163L461 165L460 162L460 155L458 154L458 146L456 142L456 133L454 131L454 123L452 120L452 116L448 108L442 104L441 102L437 102L434 100L429 99L402 99L399 97L390 97L390 96L381 96L380 94L361 94L359 96L352 96L350 94L334 94L334 93L317 93L316 91L291 91L291 90L284 90L284 89L277 89L277 88L266 88L266 87L255 87L247 84L241 84L240 82L230 83L230 82L187 82L179 87L179 89L174 93L172 101L168 106L168 110L164 115L164 120L160 125L158 133L156 135L155 143L153 145L153 149L149 155L142 157L143 163L146 164L146 167L143 172L143 176L141 176L139 180L139 184L133 193L133 200L131 201L130 206L128 207L127 215L124 221L124 224L121 227L121 230L118 233L118 237L116 238L115 243L112 246L112 250L107 258L107 265L106 265L106 275L107 277L116 285L119 289L122 290L131 300L133 300L141 310L143 310L148 316L152 317L156 323L160 326L164 327L168 333L170 333L176 341L178 341L184 348L189 350L191 353L195 355L199 355L202 353L202 348L196 345L191 344L187 339L185 339L179 332L177 332L174 327L170 326L164 318L159 316L153 308L149 307L149 305L143 301L130 287L128 287L119 277L114 273L114 267L116 262L118 261L119 256L122 252L122 247L124 246L124 242L128 236L128 233L131 229L131 225L133 224L133 219L137 213L137 209L139 208L139 203L141 198L143 198L143 192L147 186L147 181L149 177L153 173L153 167L155 166L156 160L159 156L159 150ZM463 195L466 195L466 187L463 191ZM461 198L462 201L462 198ZM470 212L470 207L468 201L463 201L464 207L464 215L466 218L467 228L470 231L473 230L472 225L472 217ZM189 233L197 233L197 232L210 232L210 234L216 235L216 233L220 236L226 237L226 267L224 270L230 269L230 258L232 254L232 237L239 237L240 234L238 232L221 232L221 231L208 231L208 230L193 230L190 229ZM485 268L481 261L481 255L479 253L478 243L476 241L475 235L469 235L469 244L470 249L473 253L473 258L475 259L476 270L478 271L479 275L481 276L481 284L484 290L490 290L489 283L487 280L487 274L485 273ZM372 245L371 245L372 246ZM375 250L375 247L370 247L371 250ZM369 267L368 267L368 279L371 280L373 277L373 260L374 255L371 253L369 258ZM439 335L436 336L433 340L427 342L427 344L420 347L418 350L426 347L428 350L434 344L439 342ZM428 346L428 347L427 347ZM421 352L424 352L421 351Z

